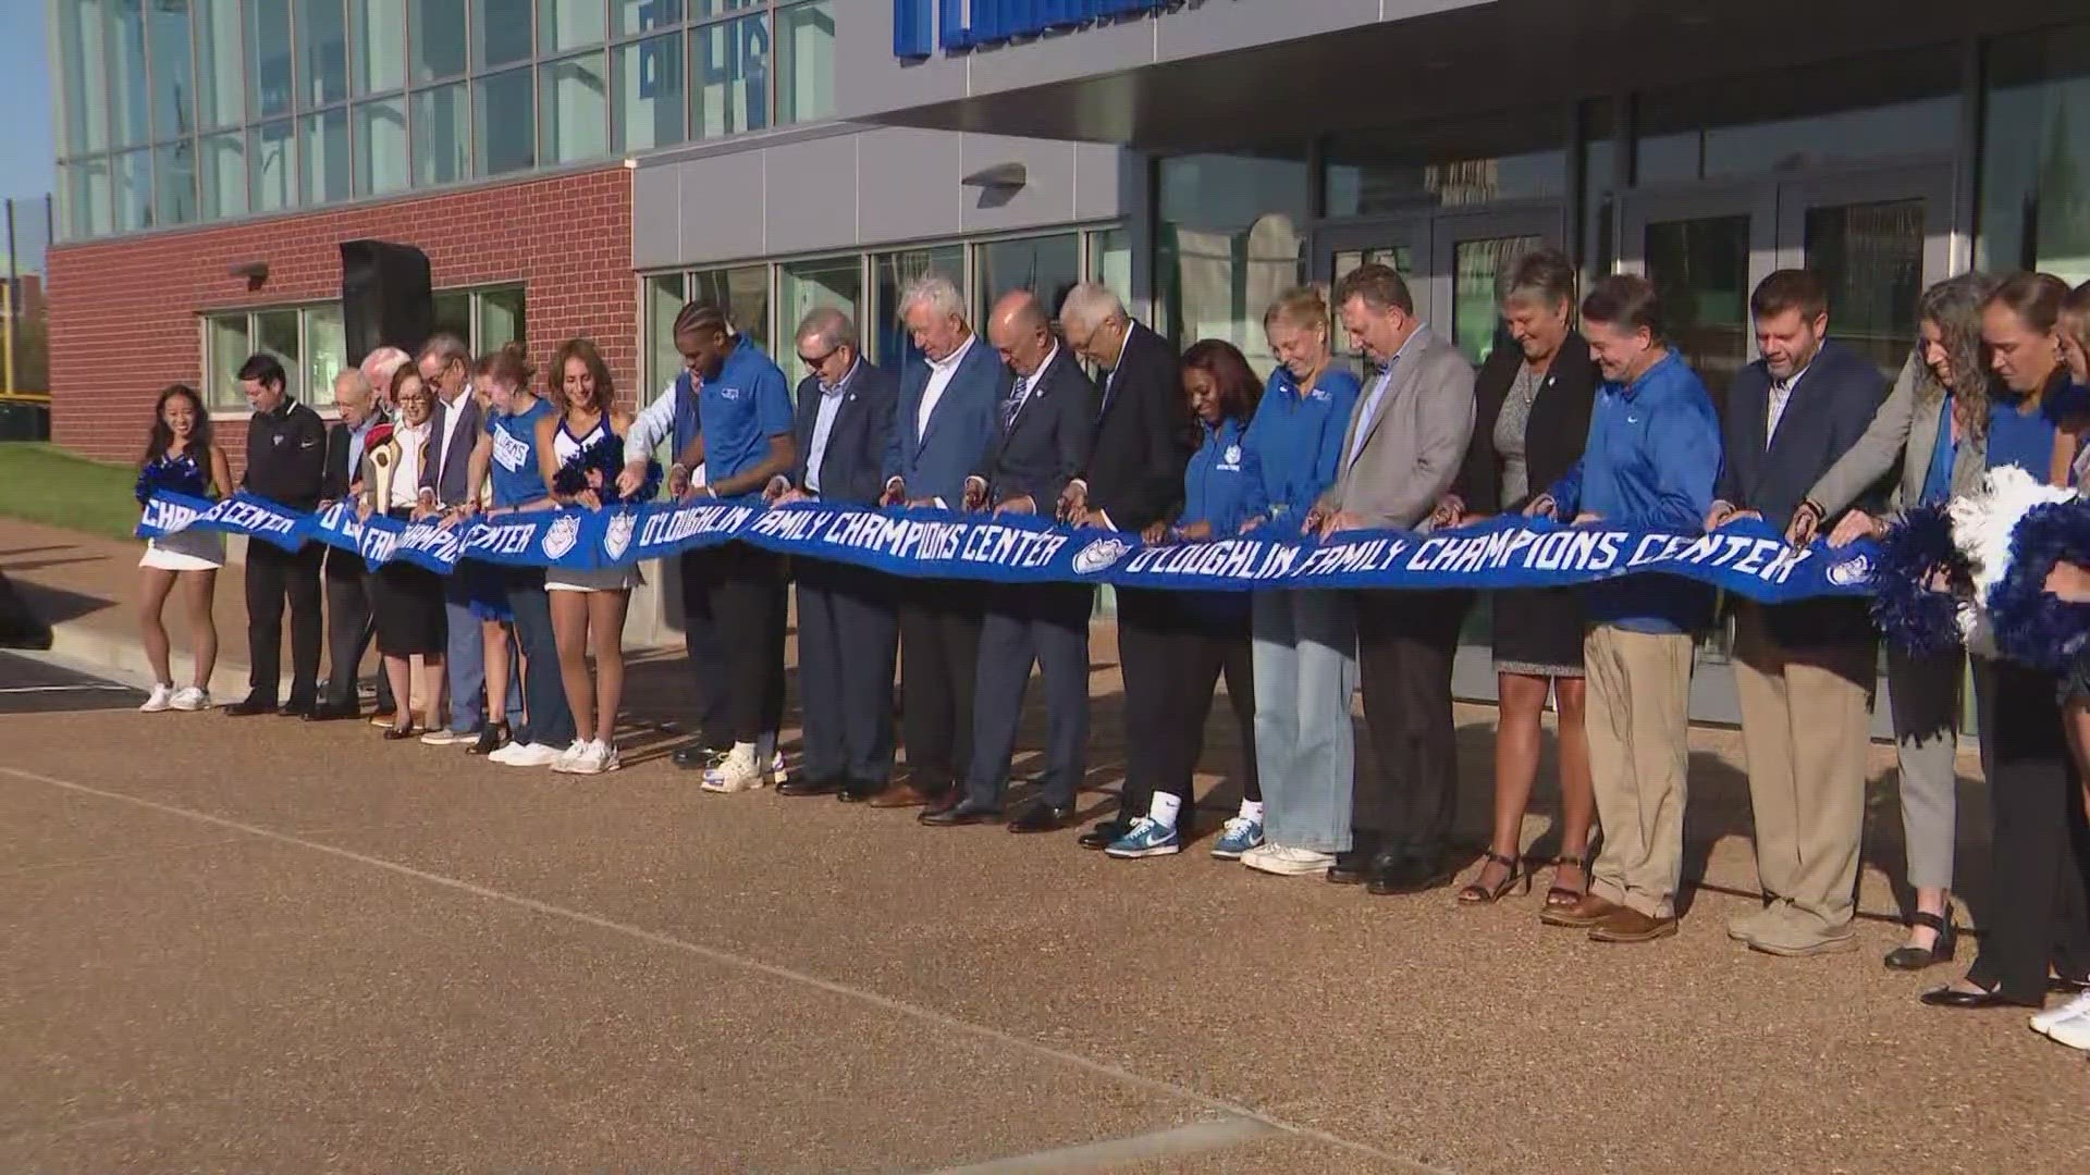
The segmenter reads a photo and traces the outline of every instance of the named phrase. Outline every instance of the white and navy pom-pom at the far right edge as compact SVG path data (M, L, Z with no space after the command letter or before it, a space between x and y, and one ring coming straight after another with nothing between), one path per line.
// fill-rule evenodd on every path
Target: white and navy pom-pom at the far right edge
M1973 583L1971 606L1960 610L1967 648L2034 669L2067 669L2090 638L2090 604L2054 600L2046 575L2061 560L2090 562L2090 506L2077 504L2073 489L2002 466L1948 512Z

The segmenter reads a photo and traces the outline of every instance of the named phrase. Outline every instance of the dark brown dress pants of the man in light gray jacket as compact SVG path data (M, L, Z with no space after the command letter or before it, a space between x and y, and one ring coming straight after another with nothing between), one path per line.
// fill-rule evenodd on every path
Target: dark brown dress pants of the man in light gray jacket
M1442 853L1459 797L1450 663L1467 592L1356 592L1356 677L1371 755L1350 822L1379 847Z

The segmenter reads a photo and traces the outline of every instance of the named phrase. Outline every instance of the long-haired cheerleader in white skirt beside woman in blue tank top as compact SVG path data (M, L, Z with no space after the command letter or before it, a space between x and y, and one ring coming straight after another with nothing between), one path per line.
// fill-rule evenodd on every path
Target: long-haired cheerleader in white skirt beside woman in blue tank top
M537 462L552 500L560 506L600 510L614 504L617 475L625 464L625 435L631 416L610 408L610 368L587 339L573 339L552 362L558 414L537 420ZM642 491L637 498L650 498ZM558 671L566 684L566 707L577 736L552 763L554 771L600 776L614 771L617 707L625 694L625 613L637 567L604 571L550 569L543 588L552 598L552 633L558 640ZM596 677L587 675L594 646Z

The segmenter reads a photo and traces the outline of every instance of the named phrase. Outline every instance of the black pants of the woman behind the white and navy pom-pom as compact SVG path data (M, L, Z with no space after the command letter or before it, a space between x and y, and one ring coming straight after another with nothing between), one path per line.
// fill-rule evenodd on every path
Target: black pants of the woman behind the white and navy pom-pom
M2059 679L2008 661L1988 663L1981 748L1992 813L1988 935L1967 978L2040 1006L2046 970L2090 976L2090 830L2082 784L2061 730Z

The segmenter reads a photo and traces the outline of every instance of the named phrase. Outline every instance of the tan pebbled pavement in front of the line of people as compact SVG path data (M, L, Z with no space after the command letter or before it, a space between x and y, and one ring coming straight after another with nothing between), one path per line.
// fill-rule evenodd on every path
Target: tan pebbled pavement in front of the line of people
M1097 652L1085 799L1108 811L1104 629ZM1682 935L1599 947L1540 928L1536 893L1473 912L1260 878L1204 843L1116 863L700 797L660 757L683 679L633 669L640 761L587 782L357 723L0 715L0 1169L2090 1162L2080 1054L2017 1014L1921 1008L1944 974L1879 966L1887 872L1860 953L1726 941L1754 880L1731 732L1695 736ZM1459 721L1473 830L1492 715ZM1208 742L1231 807L1227 721ZM1877 759L1866 855L1898 870ZM1979 874L1971 778L1963 807Z

